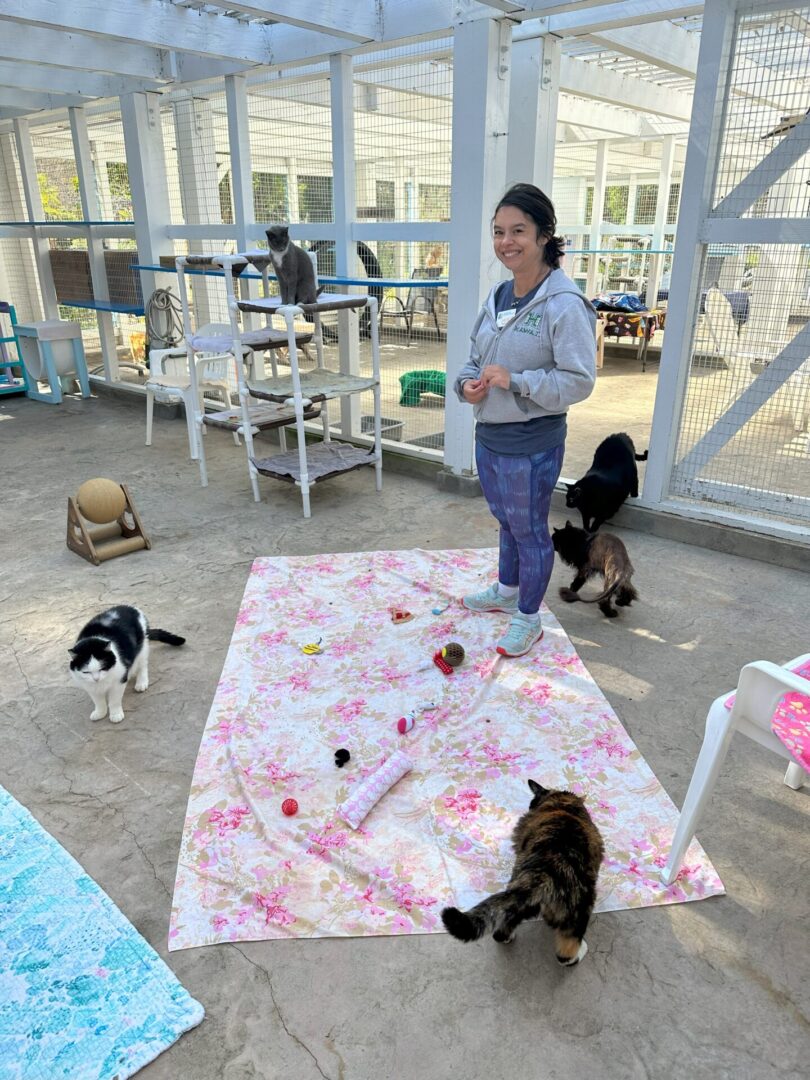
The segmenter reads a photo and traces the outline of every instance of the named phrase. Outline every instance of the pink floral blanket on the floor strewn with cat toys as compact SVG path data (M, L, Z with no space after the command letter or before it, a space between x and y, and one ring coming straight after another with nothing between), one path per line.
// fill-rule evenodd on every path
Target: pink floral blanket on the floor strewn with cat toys
M723 892L697 842L662 883L675 807L554 616L508 660L507 617L460 606L496 566L491 550L254 563L194 769L170 948L441 932L445 904L508 879L528 778L586 797L607 849L599 910ZM465 658L445 675L432 658L448 642ZM414 768L351 829L337 808L397 750Z

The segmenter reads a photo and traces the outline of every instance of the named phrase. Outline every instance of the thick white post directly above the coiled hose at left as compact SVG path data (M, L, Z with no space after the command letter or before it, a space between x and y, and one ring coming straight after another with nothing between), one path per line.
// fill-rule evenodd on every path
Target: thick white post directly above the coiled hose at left
M158 94L122 94L121 121L124 129L126 173L132 191L135 243L138 261L157 265L161 255L172 255L166 237L170 222L166 161ZM140 271L144 302L156 288L154 273Z

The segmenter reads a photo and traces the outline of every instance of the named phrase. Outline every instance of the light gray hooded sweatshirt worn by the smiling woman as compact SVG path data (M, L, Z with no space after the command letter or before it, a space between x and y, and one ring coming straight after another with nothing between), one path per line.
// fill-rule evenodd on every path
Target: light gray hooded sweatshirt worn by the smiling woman
M483 423L515 423L565 413L596 381L596 312L564 270L552 270L535 298L498 329L495 285L472 330L470 360L454 389L464 401L467 379L481 378L489 364L512 373L509 390L491 387L473 406Z

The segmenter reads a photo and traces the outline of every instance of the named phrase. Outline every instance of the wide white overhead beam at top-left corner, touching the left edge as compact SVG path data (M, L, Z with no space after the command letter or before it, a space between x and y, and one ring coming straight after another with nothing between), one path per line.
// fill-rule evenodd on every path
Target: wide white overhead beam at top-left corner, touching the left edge
M57 65L168 82L174 78L171 54L145 45L97 41L82 33L68 33L40 26L3 23L0 58Z

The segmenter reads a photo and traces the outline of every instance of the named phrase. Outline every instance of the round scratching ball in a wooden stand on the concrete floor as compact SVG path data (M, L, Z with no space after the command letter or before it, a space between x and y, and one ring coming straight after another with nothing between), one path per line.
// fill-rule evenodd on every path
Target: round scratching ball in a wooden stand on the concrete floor
M95 566L152 546L126 485L102 478L68 498L67 545Z

